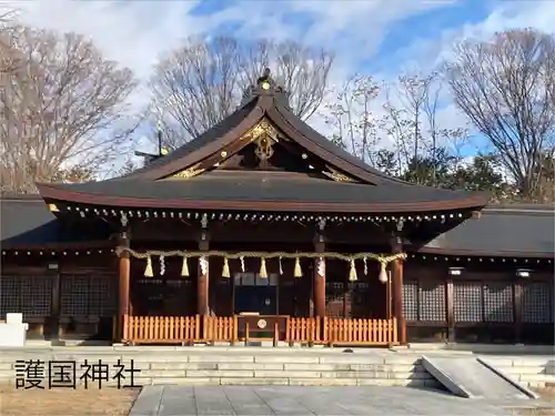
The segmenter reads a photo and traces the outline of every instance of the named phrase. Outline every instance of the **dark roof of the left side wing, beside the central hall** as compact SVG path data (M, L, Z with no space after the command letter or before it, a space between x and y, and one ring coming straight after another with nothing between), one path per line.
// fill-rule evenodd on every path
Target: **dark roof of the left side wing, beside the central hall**
M0 200L0 244L10 246L47 246L108 239L108 230L79 233L63 226L38 195L2 197Z

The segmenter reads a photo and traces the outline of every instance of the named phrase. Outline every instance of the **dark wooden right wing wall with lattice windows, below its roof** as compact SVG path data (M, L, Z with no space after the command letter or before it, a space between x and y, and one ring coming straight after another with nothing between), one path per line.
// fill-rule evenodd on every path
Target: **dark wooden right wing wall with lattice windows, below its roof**
M523 278L512 264L473 263L450 276L448 262L407 261L408 339L553 344L553 270L536 267Z

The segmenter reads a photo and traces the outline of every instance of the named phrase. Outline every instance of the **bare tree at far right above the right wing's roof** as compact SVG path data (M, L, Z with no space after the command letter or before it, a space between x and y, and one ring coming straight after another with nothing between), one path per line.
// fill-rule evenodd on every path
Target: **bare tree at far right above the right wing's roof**
M484 134L514 177L535 200L542 154L554 146L555 39L536 30L464 41L446 65L457 106Z

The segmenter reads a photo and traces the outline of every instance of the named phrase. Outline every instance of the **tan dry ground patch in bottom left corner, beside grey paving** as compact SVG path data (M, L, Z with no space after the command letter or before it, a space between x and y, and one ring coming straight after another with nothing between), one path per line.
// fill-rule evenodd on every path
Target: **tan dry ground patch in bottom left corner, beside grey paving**
M140 388L16 389L0 385L2 416L127 416Z

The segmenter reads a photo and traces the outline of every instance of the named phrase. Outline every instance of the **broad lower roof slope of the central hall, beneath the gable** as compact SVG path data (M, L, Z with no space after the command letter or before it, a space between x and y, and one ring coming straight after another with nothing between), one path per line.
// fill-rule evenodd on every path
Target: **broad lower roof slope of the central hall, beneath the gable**
M471 192L431 186L393 183L387 186L374 186L310 176L293 179L276 172L229 171L214 171L189 180L113 180L61 186L65 191L83 194L157 199L161 206L164 200L404 204L452 201L475 195Z

